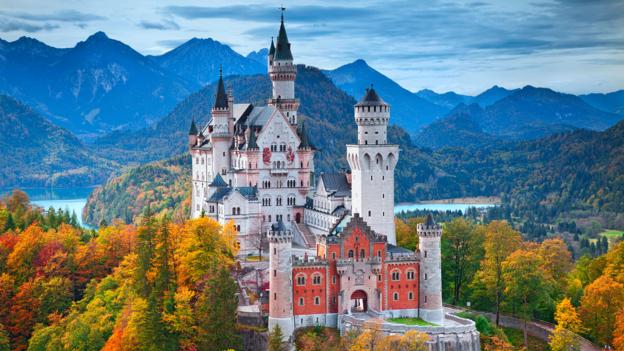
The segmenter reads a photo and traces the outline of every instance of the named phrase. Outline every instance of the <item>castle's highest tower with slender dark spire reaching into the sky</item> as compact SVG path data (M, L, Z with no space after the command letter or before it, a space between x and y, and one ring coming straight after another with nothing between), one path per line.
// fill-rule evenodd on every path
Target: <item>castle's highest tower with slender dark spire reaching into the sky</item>
M269 57L269 76L273 87L273 95L269 99L269 105L278 108L286 116L290 124L297 124L297 110L299 99L295 99L295 79L297 78L297 66L293 63L290 42L284 27L284 8L282 8L282 20L273 57ZM273 40L271 40L273 48Z

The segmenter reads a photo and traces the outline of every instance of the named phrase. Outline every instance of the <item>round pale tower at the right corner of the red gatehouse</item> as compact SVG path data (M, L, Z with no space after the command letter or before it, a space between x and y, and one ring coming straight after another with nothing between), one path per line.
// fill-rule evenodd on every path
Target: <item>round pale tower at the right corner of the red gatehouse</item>
M442 324L442 268L440 239L442 227L437 225L431 214L425 223L416 227L418 249L420 250L420 317L427 322Z

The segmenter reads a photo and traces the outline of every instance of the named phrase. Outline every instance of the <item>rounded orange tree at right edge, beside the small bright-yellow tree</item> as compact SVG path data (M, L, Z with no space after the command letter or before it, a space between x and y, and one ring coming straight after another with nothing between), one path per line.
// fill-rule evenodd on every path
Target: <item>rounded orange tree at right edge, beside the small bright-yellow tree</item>
M609 344L615 329L615 315L624 307L624 284L608 274L585 287L581 318L595 341Z

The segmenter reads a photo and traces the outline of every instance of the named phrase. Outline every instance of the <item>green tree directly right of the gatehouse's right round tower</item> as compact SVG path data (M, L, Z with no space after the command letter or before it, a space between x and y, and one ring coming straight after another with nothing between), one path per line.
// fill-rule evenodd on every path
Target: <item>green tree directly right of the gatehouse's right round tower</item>
M442 234L442 272L453 296L460 301L462 288L470 282L483 258L483 227L475 227L462 217L444 226Z

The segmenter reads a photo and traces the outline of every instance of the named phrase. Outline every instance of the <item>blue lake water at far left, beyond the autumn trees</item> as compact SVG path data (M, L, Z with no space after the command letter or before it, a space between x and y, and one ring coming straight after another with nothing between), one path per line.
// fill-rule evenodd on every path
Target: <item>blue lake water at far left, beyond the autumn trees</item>
M0 188L0 195L4 196L11 193L12 188ZM82 209L87 204L87 197L93 191L92 187L88 188L25 188L21 189L30 198L33 204L48 209L54 207L69 212L76 212L80 225L82 223ZM88 227L88 226L86 226Z

